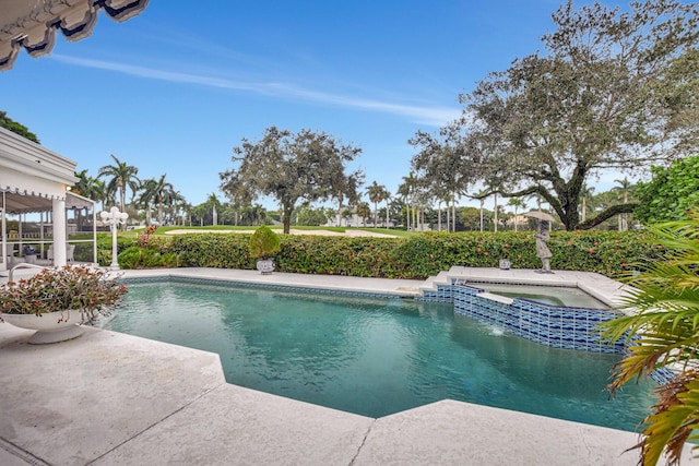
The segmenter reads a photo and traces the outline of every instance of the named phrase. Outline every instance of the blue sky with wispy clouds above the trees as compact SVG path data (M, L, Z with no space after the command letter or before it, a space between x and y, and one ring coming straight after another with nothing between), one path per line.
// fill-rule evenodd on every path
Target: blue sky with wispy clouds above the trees
M360 147L348 168L395 193L408 140L458 118L459 95L487 73L541 51L559 3L151 0L123 23L100 12L83 40L59 33L49 56L22 50L0 73L0 110L78 171L94 177L114 154L193 205L224 198L233 147L272 126Z

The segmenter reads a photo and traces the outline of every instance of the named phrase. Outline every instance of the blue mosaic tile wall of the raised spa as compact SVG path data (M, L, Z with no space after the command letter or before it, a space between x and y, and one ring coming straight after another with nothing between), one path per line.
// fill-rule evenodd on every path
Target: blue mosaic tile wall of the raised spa
M450 288L450 289L447 289ZM603 309L547 306L528 299L514 299L512 304L478 297L482 289L454 284L439 286L437 291L425 292L426 301L451 302L454 312L479 322L495 325L512 335L552 348L582 351L621 354L624 342L607 345L600 340L596 326L614 319L617 313Z

